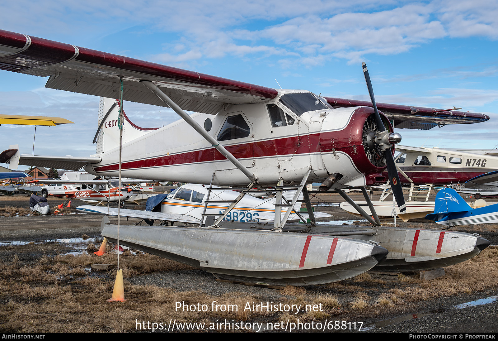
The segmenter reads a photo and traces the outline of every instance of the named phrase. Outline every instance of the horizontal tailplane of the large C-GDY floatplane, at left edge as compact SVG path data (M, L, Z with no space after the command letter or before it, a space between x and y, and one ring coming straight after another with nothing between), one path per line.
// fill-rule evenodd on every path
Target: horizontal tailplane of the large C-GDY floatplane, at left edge
M0 163L8 164L10 158L15 156L16 153L17 149L7 149L1 152ZM79 171L87 164L98 164L102 161L99 157L58 157L27 154L21 154L19 157L20 159L18 164L20 165L57 168L70 171Z

